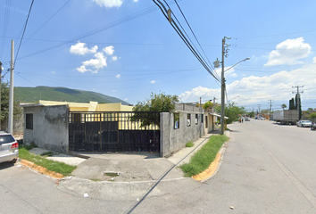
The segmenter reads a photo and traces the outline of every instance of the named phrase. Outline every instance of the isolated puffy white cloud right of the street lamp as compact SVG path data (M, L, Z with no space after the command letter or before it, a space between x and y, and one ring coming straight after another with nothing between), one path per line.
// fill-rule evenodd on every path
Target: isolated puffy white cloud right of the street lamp
M294 65L302 62L299 59L306 58L312 52L311 45L304 43L304 37L287 39L276 46L276 50L269 53L269 61L265 66Z

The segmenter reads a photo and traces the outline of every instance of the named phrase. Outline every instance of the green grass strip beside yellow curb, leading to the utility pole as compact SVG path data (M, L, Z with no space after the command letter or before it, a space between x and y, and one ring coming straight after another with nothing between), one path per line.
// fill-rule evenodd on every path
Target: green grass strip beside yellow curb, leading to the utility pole
M228 136L211 136L209 141L192 156L190 162L181 165L180 169L183 170L186 177L203 172L215 160L220 147L228 140Z

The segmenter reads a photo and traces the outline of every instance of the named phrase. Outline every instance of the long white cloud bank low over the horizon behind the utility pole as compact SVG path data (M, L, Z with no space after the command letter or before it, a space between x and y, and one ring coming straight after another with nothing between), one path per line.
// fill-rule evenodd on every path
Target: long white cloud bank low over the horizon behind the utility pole
M314 60L316 61L315 58ZM269 76L241 78L227 84L226 88L229 99L239 96L236 99L234 98L233 101L242 106L250 104L256 106L259 103L267 103L270 99L274 100L274 103L288 103L288 100L295 96L292 95L292 86L304 86L302 89L304 90L302 95L304 104L304 99L315 100L315 76L316 62L313 62L297 70L280 70ZM207 100L214 96L220 99L220 88L197 86L179 95L184 103L197 102L199 97Z

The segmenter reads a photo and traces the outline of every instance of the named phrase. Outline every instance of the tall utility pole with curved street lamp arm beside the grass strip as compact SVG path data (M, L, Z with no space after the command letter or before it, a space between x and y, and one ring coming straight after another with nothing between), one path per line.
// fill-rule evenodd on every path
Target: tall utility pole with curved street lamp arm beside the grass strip
M228 70L224 70L224 58L227 56L228 50L225 49L225 47L228 47L226 45L226 38L230 39L230 37L224 37L222 39L222 52L221 52L221 112L220 112L220 135L224 135L224 126L225 126L225 77L224 73L228 71L229 69L237 66L240 62L245 62L247 60L250 60L250 58L245 58L245 60L239 61L233 66L231 66ZM214 62L215 68L220 67L220 62L217 60Z

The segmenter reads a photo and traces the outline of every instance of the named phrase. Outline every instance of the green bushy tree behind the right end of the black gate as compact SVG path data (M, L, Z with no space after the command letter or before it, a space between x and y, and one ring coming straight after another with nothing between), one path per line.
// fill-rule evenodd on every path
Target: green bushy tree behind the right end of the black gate
M166 95L164 92L161 94L154 94L150 95L149 99L146 99L145 102L137 102L134 106L133 111L155 111L155 112L176 112L175 103L179 102L178 95ZM154 123L157 126L160 126L160 119L157 116L148 117L146 114L135 114L131 118L131 121L138 121L142 122L142 126L148 126Z

